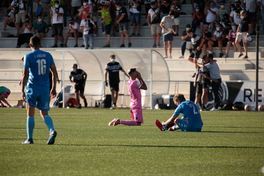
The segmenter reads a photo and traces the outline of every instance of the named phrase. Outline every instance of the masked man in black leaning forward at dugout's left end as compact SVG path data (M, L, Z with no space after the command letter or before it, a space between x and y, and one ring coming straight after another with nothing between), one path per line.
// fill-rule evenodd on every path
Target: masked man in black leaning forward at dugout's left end
M78 69L77 67L78 67L77 64L72 65L72 72L70 72L69 74L69 81L74 85L75 99L78 104L77 109L81 109L82 105L80 104L79 93L80 93L80 97L83 99L84 107L87 107L87 101L83 95L87 74L82 69Z

